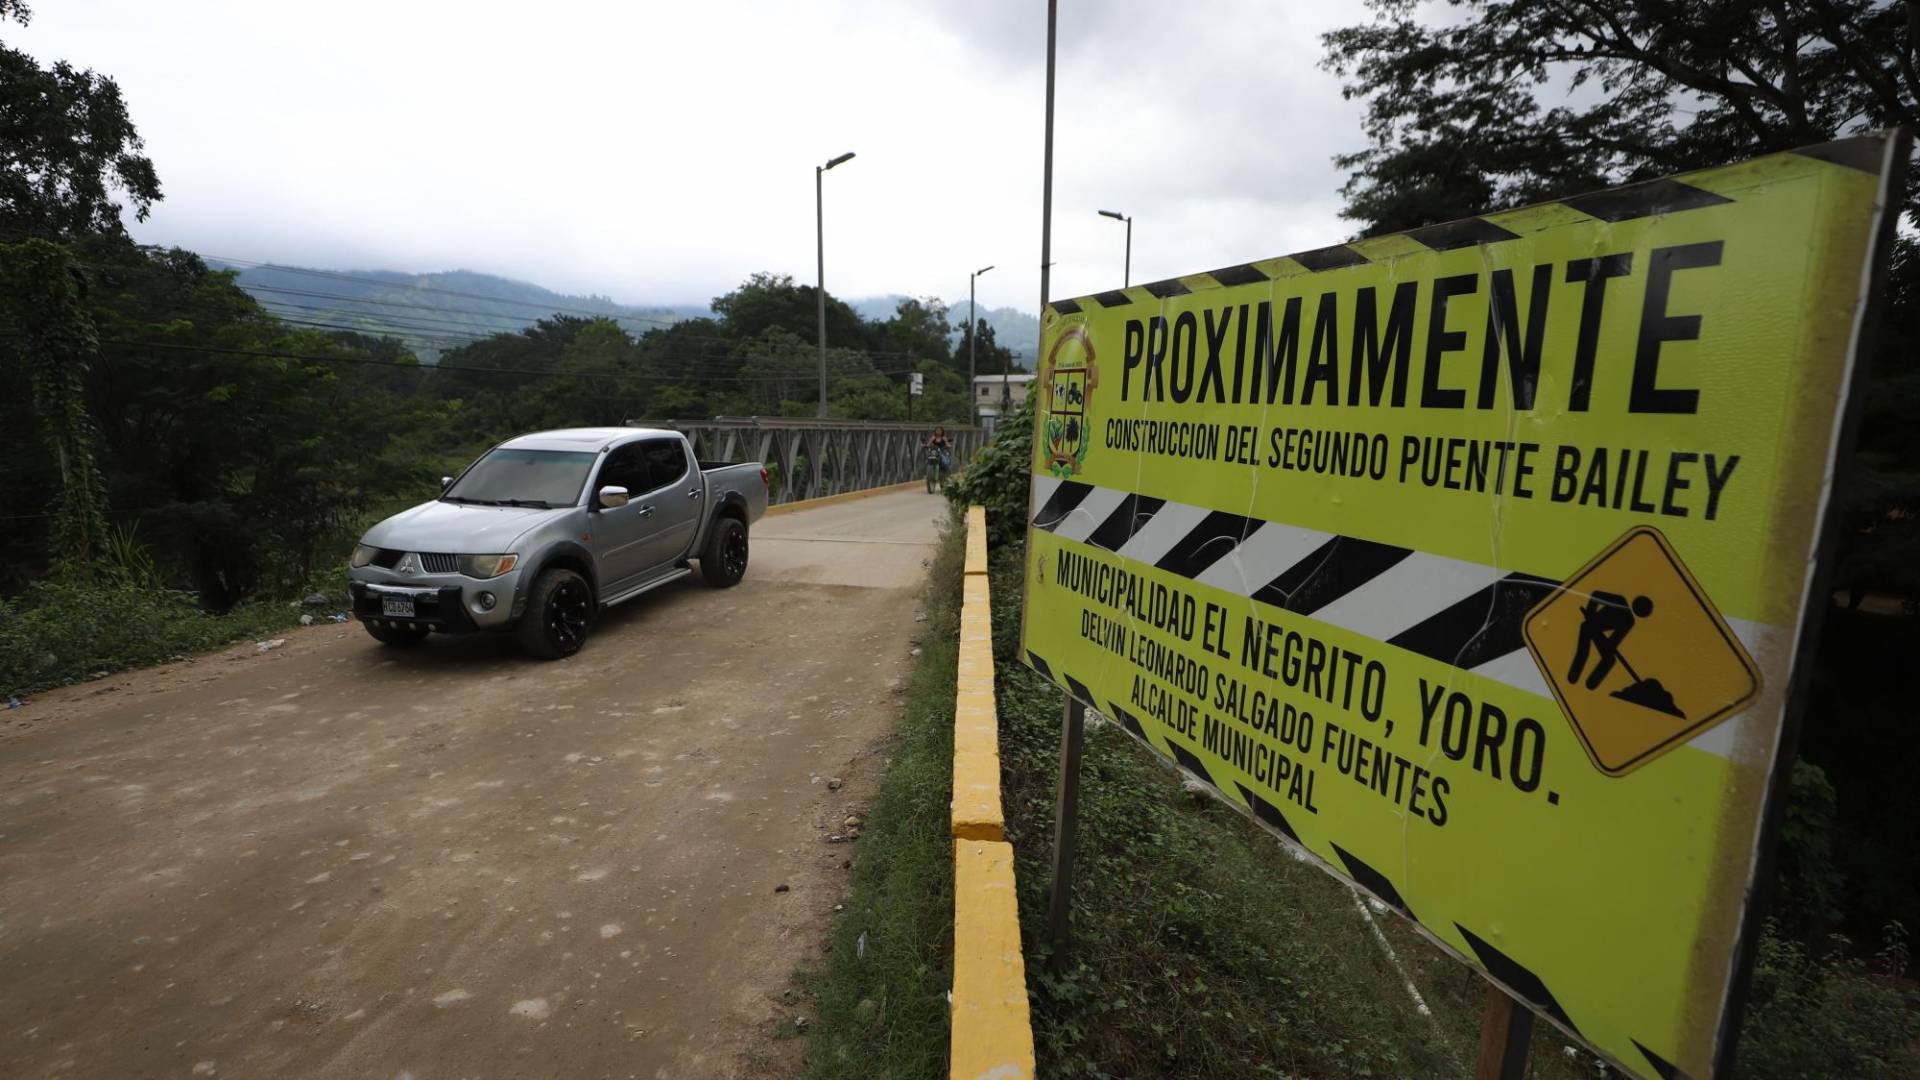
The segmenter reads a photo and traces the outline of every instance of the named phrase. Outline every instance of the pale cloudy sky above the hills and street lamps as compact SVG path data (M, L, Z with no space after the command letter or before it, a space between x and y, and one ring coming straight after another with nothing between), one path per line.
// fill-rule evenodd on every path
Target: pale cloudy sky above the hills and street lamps
M1334 242L1359 0L1064 0L1054 296ZM115 77L165 202L134 234L476 269L632 304L760 269L1039 302L1043 0L38 0L0 37Z

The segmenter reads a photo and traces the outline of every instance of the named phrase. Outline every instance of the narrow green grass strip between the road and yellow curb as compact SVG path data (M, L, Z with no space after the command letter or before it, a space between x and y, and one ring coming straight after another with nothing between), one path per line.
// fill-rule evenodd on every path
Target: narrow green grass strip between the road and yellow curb
M956 523L933 557L891 765L852 846L852 896L824 965L801 972L818 1013L806 1045L816 1080L947 1074L962 536Z

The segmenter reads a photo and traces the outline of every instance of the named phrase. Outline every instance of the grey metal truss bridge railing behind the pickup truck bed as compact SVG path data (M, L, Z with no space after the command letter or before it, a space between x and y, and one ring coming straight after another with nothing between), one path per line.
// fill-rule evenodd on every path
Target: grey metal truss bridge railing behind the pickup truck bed
M920 444L931 423L822 421L801 417L714 417L707 421L628 421L684 432L703 461L760 461L772 502L787 503L904 484L924 477ZM948 425L954 467L985 444L977 427Z

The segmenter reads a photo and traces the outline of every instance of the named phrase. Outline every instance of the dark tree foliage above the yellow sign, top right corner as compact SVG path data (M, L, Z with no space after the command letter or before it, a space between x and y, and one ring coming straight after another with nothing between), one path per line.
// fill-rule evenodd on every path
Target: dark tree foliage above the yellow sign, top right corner
M1920 121L1912 4L1369 6L1325 38L1367 102L1369 146L1336 158L1365 234Z

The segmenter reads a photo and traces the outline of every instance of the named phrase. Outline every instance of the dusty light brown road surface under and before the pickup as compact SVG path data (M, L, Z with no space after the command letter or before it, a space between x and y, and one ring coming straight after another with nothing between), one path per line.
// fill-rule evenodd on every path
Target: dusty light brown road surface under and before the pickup
M570 661L326 625L0 713L0 1074L785 1072L943 519L768 517Z

